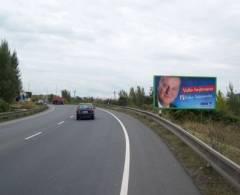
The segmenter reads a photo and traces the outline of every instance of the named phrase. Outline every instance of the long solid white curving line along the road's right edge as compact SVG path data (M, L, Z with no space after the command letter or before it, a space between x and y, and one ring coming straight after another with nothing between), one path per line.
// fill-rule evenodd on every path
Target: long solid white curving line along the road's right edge
M111 113L107 110L104 110L104 109L100 109L100 110L105 111L108 114L112 115L120 123L120 125L122 127L122 130L124 132L124 135L125 135L126 153L125 153L125 163L124 163L124 170L123 170L123 178L122 178L120 195L127 195L127 193L128 193L128 181L129 181L129 168L130 168L130 144L129 144L128 133L127 133L127 130L126 130L125 126L123 125L122 121L118 117L116 117L113 113Z

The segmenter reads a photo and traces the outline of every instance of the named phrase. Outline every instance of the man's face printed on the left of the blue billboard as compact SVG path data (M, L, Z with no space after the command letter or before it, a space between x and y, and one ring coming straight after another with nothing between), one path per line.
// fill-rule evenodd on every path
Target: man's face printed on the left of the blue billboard
M177 97L180 78L162 77L159 81L158 98L163 106L169 106Z

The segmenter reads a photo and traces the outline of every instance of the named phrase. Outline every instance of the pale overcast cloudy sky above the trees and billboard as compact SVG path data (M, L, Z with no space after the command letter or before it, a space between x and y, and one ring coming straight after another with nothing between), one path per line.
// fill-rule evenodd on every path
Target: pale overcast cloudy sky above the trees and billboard
M239 0L0 0L0 39L34 94L113 97L154 75L240 92Z

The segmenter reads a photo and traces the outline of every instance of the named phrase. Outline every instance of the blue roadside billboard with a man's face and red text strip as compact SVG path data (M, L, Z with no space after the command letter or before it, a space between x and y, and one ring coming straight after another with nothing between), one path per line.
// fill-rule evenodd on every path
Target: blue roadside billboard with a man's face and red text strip
M175 109L215 109L216 77L154 76L154 106Z

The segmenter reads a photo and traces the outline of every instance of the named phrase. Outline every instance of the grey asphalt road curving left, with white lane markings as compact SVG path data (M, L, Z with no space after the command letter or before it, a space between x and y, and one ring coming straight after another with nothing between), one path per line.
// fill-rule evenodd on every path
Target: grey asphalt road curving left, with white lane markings
M0 194L200 194L157 135L110 112L77 121L75 106L51 106L0 124Z

